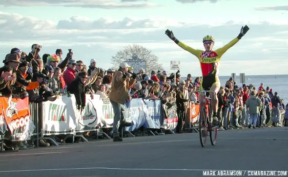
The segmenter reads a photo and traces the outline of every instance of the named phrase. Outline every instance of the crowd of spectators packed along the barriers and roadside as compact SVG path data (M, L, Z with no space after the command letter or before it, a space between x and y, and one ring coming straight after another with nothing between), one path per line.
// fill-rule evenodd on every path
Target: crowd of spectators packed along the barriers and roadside
M133 98L162 100L162 104L168 107L177 106L177 133L184 133L185 127L193 126L193 124L185 124L185 120L190 104L199 103L198 94L193 91L199 90L201 77L192 80L191 74L188 74L187 78L182 80L180 71L170 75L167 75L166 71L151 71L151 73L146 73L144 69L133 71L133 68L126 63L120 63L116 70L104 70L97 66L96 59L91 59L88 66L84 65L82 60L73 59L71 50L64 58L62 49L57 49L55 54L45 53L42 57L39 54L34 56L40 49L41 46L33 44L28 54L13 48L6 55L3 60L4 66L0 68L0 92L3 96L13 95L19 98L28 96L30 102L41 103L55 101L58 94L74 94L77 109L80 111L85 106L85 94L90 94L92 99L94 94L99 94L105 102L111 102L111 98L120 100L118 97L123 97L121 100L124 101ZM125 85L124 95L113 93L118 87L115 84L120 82L114 74L121 75L122 83L123 80L129 83ZM175 81L174 74L176 74ZM282 126L283 122L288 126L288 116L284 116L283 100L280 100L277 92L273 93L269 87L264 89L263 83L258 89L251 84L240 88L233 78L230 78L225 87L221 87L218 99L219 130ZM121 123L123 124L123 120ZM129 124L124 122L124 125ZM114 135L117 136L116 131L118 130L115 130ZM61 143L59 137L53 138ZM50 145L43 140L39 143L41 146ZM6 141L5 146L7 149L11 147L17 149L34 147L34 144L33 141L20 143Z

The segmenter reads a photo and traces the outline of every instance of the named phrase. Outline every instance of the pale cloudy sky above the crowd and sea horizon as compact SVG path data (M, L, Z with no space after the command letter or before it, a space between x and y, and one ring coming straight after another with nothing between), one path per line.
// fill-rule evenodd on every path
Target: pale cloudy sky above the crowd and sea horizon
M178 60L182 75L197 76L197 58L165 30L196 49L204 49L202 38L213 35L217 49L247 24L247 35L223 55L220 75L287 74L287 19L287 0L0 0L0 57L13 47L28 53L38 43L41 55L73 49L74 59L89 65L96 58L108 69L112 55L139 44L167 71L170 60Z

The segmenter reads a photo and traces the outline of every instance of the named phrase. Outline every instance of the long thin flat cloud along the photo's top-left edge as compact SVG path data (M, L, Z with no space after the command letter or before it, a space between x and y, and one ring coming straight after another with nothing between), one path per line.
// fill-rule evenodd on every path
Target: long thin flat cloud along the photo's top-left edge
M118 1L118 2L117 2ZM149 8L158 6L154 3L138 3L140 0L1 0L5 6L64 6L83 8ZM146 0L144 0L146 1Z

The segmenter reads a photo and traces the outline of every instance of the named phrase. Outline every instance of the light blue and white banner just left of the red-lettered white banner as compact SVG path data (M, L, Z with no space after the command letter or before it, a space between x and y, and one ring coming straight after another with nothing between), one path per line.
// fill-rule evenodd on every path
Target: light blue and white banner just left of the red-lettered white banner
M160 129L161 125L161 101L160 100L143 100L142 107L146 118L145 128Z

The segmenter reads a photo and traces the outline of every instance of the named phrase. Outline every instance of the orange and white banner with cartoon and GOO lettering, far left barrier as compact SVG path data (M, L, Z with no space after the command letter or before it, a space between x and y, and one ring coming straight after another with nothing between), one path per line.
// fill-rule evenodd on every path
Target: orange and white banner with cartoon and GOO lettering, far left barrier
M35 126L30 115L28 97L19 99L10 96L9 98L1 97L0 99L3 105L2 113L11 132L12 141L29 140Z

